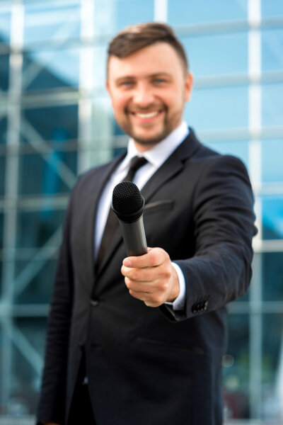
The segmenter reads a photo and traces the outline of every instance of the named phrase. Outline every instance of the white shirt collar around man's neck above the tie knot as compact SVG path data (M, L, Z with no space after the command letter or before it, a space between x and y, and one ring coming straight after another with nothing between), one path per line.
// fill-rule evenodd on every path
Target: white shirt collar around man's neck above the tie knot
M187 128L187 123L183 121L175 130L173 130L164 140L142 153L137 150L134 145L134 140L129 139L127 147L127 155L121 164L122 169L126 169L133 157L143 156L147 161L156 167L156 169L166 161L172 152L185 140L190 130Z

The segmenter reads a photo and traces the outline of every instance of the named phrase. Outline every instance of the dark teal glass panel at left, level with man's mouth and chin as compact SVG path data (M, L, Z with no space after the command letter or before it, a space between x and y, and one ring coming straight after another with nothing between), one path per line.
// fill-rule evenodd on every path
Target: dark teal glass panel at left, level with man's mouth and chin
M21 135L23 141L39 149L42 148L42 139L65 146L68 140L78 138L78 106L26 109L21 121Z

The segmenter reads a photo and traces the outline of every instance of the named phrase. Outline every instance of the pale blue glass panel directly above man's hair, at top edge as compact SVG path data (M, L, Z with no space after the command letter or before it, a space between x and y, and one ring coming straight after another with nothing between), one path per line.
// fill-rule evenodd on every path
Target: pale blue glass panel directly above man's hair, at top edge
M115 34L132 23L154 21L154 0L97 0L95 12L96 34Z

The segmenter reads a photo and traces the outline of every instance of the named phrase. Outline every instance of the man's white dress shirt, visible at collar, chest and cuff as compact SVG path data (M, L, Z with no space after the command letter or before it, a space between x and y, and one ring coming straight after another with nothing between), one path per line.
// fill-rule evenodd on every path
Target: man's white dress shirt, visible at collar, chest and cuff
M141 166L141 168L137 170L133 179L133 182L137 185L139 190L141 190L141 188L144 187L146 182L149 181L151 176L158 170L163 162L165 162L166 159L168 159L168 157L170 157L170 155L173 153L173 151L183 142L183 140L185 140L185 137L187 137L188 133L189 130L187 128L187 124L183 121L183 123L181 123L178 128L175 128L175 130L173 130L173 132L171 132L170 135L168 135L164 140L159 142L152 149L142 152L142 154L134 145L134 140L129 139L127 155L110 177L98 203L98 212L96 215L96 236L94 240L95 261L98 255L98 249L108 217L113 189L127 175L131 159L135 156L142 156L148 161L146 164L144 164L144 166ZM180 267L173 262L172 265L178 274L180 293L174 302L167 302L166 304L172 305L173 310L181 310L185 303L185 278Z

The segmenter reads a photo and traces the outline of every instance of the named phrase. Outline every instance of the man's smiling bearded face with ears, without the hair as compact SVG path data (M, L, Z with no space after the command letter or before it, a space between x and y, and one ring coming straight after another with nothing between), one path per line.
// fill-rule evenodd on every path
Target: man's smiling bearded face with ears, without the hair
M158 42L122 59L111 56L106 85L117 123L142 152L180 125L192 74L171 45Z

